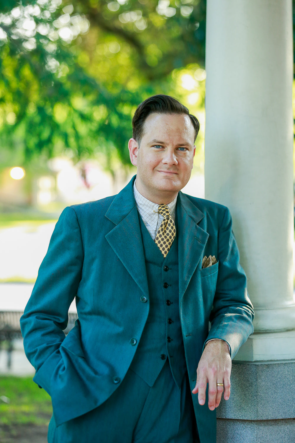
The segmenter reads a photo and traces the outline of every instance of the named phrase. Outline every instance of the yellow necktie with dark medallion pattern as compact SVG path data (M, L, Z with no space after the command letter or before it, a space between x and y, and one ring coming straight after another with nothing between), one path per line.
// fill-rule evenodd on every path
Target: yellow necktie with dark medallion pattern
M170 209L167 205L159 205L158 212L163 215L163 221L157 230L155 243L165 257L171 248L172 241L175 238L176 229L173 218L170 215Z

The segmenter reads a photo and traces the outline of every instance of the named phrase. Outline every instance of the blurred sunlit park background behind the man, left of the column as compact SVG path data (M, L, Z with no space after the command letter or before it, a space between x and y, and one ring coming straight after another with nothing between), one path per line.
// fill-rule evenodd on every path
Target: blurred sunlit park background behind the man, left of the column
M21 441L15 423L50 415L43 390L19 396L35 388L18 322L54 225L65 206L115 194L135 174L127 142L146 97L172 95L198 117L184 192L204 196L205 33L206 0L0 0L3 442Z

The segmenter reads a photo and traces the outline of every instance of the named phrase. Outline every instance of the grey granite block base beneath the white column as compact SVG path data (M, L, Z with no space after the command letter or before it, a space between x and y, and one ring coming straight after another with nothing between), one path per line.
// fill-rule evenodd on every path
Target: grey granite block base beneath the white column
M230 400L217 409L217 443L295 442L295 360L233 361Z

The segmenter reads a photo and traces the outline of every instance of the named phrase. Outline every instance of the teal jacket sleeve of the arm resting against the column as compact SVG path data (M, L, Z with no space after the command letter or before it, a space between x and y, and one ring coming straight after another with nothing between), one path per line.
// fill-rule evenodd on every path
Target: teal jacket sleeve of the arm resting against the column
M231 358L253 333L254 311L247 292L245 272L239 263L237 242L232 231L232 218L226 208L218 232L218 277L211 329L207 340L219 338L230 347Z

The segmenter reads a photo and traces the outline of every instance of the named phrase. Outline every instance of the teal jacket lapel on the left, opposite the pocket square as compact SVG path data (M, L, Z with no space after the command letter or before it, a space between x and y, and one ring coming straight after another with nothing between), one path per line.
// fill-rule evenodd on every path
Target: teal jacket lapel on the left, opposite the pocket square
M148 297L149 289L146 277L142 236L140 233L138 212L135 205L132 185L127 185L113 200L106 217L115 223L115 227L105 238L130 276ZM128 192L129 191L129 192Z

